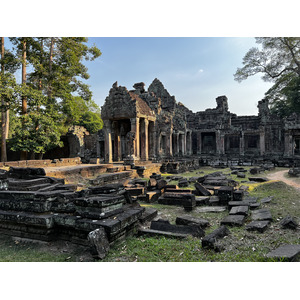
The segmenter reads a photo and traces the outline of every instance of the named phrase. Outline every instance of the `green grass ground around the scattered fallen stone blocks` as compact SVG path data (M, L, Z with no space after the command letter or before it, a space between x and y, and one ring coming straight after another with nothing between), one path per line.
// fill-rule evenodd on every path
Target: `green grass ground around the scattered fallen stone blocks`
M230 169L201 169L198 171L180 174L184 177L193 177L221 171L229 174ZM266 176L260 174L260 176ZM249 183L232 176L239 185ZM192 187L194 188L193 184ZM251 183L250 196L259 199L274 196L270 203L262 204L262 208L269 208L273 222L264 233L253 233L245 230L245 227L230 227L230 235L221 240L224 250L215 252L203 249L201 239L189 237L178 240L165 237L129 237L111 247L104 262L261 262L272 261L266 258L266 254L283 244L298 244L300 239L299 230L282 229L280 221L286 215L300 217L299 192L283 182L267 182L262 184ZM205 218L210 222L210 227L205 234L210 233L220 226L220 221L228 214L201 213L196 208L192 212L185 212L182 207L141 203L145 207L154 207L158 210L159 217L168 219L175 223L178 215L190 214L195 217ZM246 223L250 222L250 217ZM81 261L82 253L79 251L59 251L58 248L50 250L51 247L39 244L12 241L7 237L0 238L0 261ZM74 249L73 249L74 250Z

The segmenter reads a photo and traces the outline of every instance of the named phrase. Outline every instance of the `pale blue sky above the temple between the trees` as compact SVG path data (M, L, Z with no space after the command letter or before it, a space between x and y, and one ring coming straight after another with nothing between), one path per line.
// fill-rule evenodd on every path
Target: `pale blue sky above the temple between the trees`
M89 43L102 52L96 61L87 63L88 84L99 106L115 81L128 89L136 82L148 88L158 78L178 102L194 112L215 107L215 98L226 95L231 112L253 115L271 86L260 75L242 83L233 78L243 56L257 46L254 38L97 37L89 38Z

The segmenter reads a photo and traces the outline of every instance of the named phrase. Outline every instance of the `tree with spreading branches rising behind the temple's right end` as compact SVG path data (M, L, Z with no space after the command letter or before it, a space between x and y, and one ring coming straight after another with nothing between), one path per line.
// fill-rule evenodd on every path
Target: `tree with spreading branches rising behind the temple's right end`
M261 49L251 48L243 58L243 67L234 74L241 82L249 76L261 73L264 81L274 82L265 96L271 109L281 116L290 111L300 112L300 38L256 38Z

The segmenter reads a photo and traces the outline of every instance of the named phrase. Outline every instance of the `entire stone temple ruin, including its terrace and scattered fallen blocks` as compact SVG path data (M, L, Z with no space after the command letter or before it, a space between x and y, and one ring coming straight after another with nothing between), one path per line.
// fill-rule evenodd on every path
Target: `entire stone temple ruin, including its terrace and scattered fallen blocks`
M249 195L248 186L238 187L231 175L264 182L268 179L257 174L277 165L296 167L296 176L300 116L280 119L270 113L265 100L258 102L258 116L237 116L229 112L226 96L216 99L216 108L194 113L177 103L158 79L147 91L144 83L134 88L128 91L113 84L101 110L104 128L97 134L78 126L70 129L64 137L67 146L61 149L62 157L69 158L59 158L52 151L53 157L42 161L1 165L10 169L0 169L0 234L71 242L103 259L112 245L133 234L192 235L201 238L202 248L222 251L222 239L230 235L227 226L259 233L268 230L274 221L268 208L273 197L258 201ZM259 167L249 171L243 167L254 164ZM231 171L188 179L159 174L201 165L226 165ZM85 188L66 184L64 178L77 175L89 181ZM191 184L195 189L186 189ZM181 206L178 211L184 215L170 224L157 209L140 202ZM199 213L228 211L228 215L219 228L206 234L209 220L188 214L196 209ZM299 226L290 216L282 221L285 228ZM267 256L281 258L286 253L294 260L300 245L278 248Z

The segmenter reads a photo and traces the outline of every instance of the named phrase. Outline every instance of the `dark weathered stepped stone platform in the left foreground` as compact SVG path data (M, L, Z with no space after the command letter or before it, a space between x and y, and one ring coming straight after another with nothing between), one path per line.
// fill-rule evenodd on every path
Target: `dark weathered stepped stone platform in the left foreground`
M1 171L0 232L42 241L66 240L89 247L98 258L137 231L157 211L134 201L122 184L75 191L40 169Z

